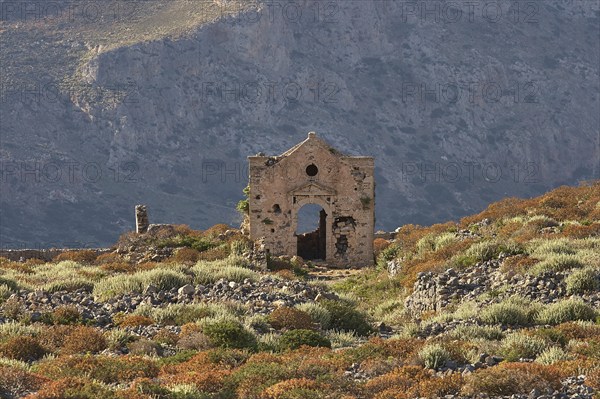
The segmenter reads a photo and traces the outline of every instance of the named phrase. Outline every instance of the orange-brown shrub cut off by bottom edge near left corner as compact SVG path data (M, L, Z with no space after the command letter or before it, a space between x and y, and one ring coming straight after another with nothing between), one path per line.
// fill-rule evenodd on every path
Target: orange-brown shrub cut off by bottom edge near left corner
M114 399L114 392L87 378L69 377L51 381L26 399Z

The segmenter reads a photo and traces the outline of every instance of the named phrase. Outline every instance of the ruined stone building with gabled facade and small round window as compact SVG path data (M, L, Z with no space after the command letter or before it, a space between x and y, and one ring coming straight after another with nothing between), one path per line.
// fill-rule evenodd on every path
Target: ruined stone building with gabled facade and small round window
M335 267L373 264L372 157L343 155L311 132L279 156L248 160L250 237L262 239L270 254L325 260ZM315 205L320 207L313 215L316 229L300 232L301 209Z

